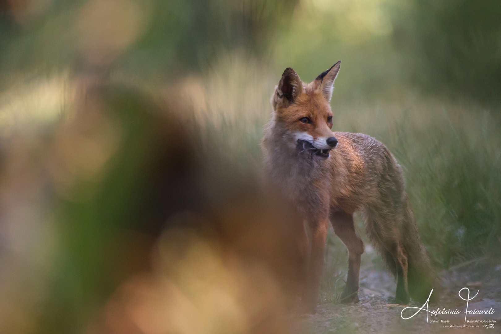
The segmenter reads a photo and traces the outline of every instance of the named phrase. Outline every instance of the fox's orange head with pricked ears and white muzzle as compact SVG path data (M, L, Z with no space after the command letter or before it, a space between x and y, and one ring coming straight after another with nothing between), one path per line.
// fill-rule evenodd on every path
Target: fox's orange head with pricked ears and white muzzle
M332 111L329 102L341 61L305 84L292 68L282 75L272 96L275 125L285 133L283 138L299 152L327 159L338 140L331 131Z

